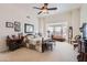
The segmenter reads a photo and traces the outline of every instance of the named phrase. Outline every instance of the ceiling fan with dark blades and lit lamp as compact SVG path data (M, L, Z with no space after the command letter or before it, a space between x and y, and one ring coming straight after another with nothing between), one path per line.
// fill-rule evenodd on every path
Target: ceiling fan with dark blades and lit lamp
M57 8L47 8L47 7L48 7L48 3L44 3L44 6L41 8L37 8L37 7L33 7L33 8L40 10L40 12L37 14L48 13L48 10L57 10Z

